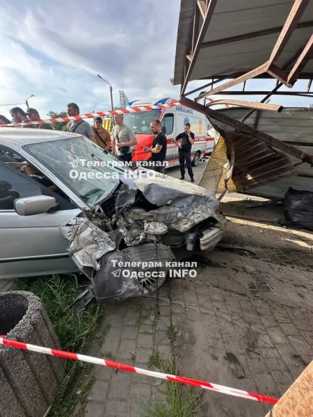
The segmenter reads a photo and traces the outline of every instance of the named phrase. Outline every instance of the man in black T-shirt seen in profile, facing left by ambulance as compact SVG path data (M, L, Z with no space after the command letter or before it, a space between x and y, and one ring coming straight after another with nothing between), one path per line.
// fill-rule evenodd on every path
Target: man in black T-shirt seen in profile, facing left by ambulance
M162 172L164 167L164 161L166 160L166 151L168 149L168 140L165 134L162 132L161 122L152 120L150 123L150 129L155 135L152 147L144 147L143 152L151 152L152 157L152 169L157 172Z

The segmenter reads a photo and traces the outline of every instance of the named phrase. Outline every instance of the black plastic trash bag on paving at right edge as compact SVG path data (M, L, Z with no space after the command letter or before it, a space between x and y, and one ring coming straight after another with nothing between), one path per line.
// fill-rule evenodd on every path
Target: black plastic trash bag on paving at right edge
M313 231L313 192L290 187L284 195L284 218L289 224Z

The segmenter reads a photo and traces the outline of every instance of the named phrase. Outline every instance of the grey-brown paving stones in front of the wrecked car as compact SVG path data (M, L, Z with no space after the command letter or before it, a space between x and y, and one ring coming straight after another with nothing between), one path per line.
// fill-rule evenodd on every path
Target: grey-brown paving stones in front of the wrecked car
M197 277L104 307L102 329L110 329L99 356L147 368L153 347L168 358L175 329L180 375L274 397L287 390L312 360L313 234L228 220L223 244L193 256ZM147 416L146 405L163 398L159 379L102 367L94 375L85 417ZM264 417L271 409L211 391L202 401L200 417Z

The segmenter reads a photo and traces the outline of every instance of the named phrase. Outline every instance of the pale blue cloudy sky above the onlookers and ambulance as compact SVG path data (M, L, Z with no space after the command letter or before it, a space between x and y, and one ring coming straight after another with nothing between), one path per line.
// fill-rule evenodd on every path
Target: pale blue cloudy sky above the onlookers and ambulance
M31 95L29 106L42 119L48 111L66 111L73 101L81 114L107 111L109 85L97 74L113 86L115 106L119 90L130 101L179 99L179 85L170 83L179 8L180 0L2 0L0 114L10 118L10 108L26 108ZM191 82L187 91L201 84ZM294 89L305 85L298 81ZM248 86L267 90L275 81L249 81ZM273 104L312 104L312 99L277 97Z

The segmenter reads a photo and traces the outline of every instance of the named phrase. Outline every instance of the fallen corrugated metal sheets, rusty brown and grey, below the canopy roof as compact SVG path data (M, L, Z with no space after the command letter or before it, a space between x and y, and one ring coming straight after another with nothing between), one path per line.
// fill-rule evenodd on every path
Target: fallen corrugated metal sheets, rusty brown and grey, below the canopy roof
M248 108L221 110L235 120L241 120L248 111ZM254 126L255 117L256 113L246 120L246 124ZM292 173L290 165L299 163L298 158L283 154L284 158L279 158L278 161L277 156L269 154L278 149L271 151L271 148L261 140L251 140L249 136L234 132L230 126L216 123L228 133L227 136L232 138L235 145L232 179L238 190L268 198L284 197L284 193L290 186L298 190L313 191L313 167L309 164L302 163L294 167L294 173ZM257 129L313 154L313 111L308 108L285 108L282 113L261 111ZM246 181L242 172L248 172L254 181L250 183Z

